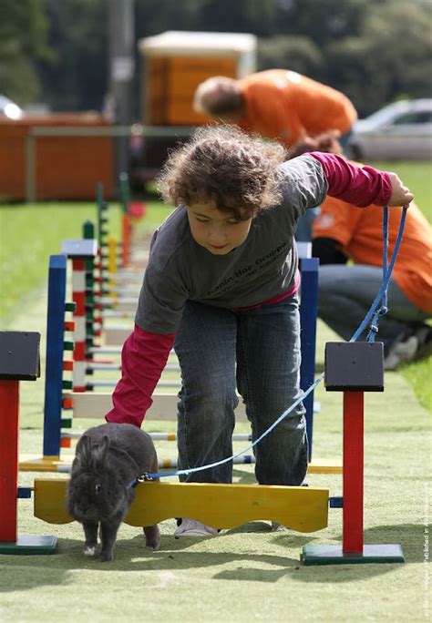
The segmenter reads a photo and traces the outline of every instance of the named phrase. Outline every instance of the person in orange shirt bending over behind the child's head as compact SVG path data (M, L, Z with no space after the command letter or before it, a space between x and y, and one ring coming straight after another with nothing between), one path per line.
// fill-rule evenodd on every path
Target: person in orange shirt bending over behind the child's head
M268 69L239 80L208 78L197 88L193 107L286 148L302 143L309 151L318 148L314 137L324 132L339 138L344 148L357 118L343 93L286 69Z

